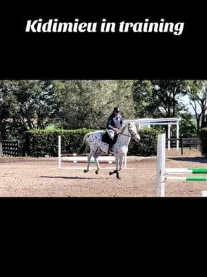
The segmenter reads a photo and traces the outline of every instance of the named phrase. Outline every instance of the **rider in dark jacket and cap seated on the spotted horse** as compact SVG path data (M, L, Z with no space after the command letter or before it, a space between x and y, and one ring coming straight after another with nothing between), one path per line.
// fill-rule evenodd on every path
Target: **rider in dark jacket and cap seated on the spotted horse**
M120 109L118 107L115 107L106 123L107 132L111 139L108 146L108 154L112 152L112 145L114 144L114 140L117 140L119 129L121 129L122 123L123 118L120 114Z

